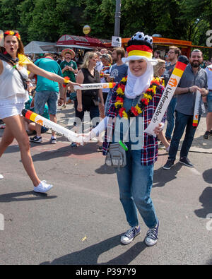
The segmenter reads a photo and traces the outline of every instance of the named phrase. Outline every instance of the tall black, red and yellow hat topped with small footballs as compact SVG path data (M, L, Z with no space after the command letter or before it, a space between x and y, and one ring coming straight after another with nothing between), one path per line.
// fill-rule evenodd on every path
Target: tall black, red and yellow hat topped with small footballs
M158 61L153 58L153 38L148 35L144 35L143 32L136 32L136 34L131 37L128 45L126 47L126 52L128 52L128 57L122 58L124 63L130 60L146 59L150 61L153 65L157 64Z

